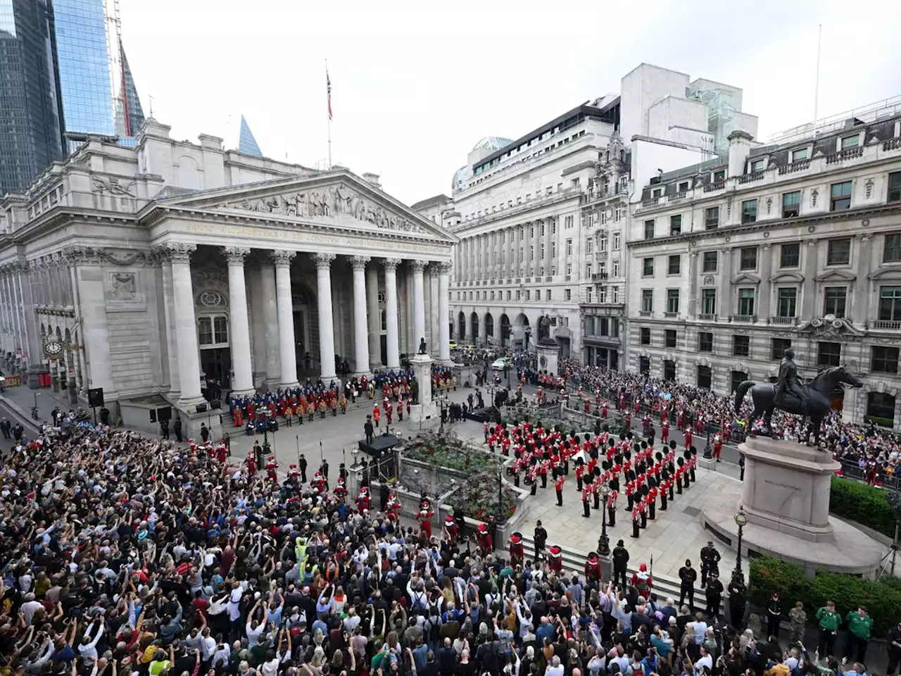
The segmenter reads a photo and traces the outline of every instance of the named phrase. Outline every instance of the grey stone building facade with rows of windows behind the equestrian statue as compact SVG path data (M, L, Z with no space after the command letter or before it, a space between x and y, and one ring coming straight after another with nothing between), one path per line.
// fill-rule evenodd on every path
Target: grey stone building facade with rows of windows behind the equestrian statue
M628 363L733 392L846 364L845 420L901 424L901 117L851 119L647 182L628 234Z

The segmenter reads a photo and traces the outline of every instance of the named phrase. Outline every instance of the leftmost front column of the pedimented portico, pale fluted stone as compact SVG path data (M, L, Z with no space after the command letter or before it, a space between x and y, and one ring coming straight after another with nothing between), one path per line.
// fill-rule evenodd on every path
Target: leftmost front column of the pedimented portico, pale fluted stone
M191 286L191 253L197 247L182 242L168 242L165 247L172 261L172 300L180 386L178 406L187 410L204 400L200 393L200 348L197 346L197 319ZM88 342L85 335L85 343Z

